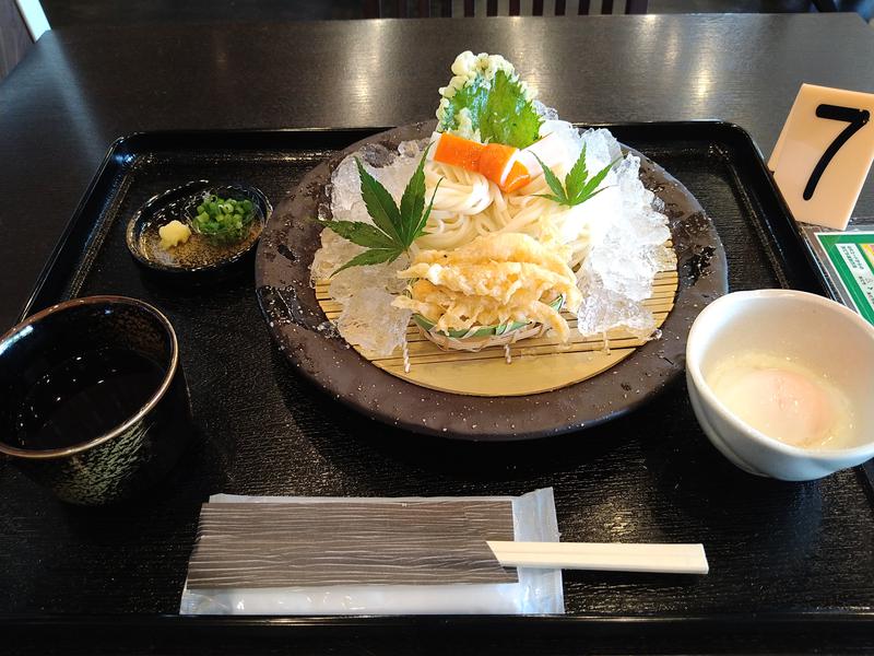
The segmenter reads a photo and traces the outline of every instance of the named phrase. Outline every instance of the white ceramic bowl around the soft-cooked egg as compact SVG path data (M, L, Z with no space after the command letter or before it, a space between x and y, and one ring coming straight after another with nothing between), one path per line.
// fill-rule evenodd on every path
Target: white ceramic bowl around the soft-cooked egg
M708 383L714 363L767 352L826 375L850 401L859 426L846 448L803 448L737 418ZM708 305L686 343L686 382L695 415L722 455L741 469L807 481L874 457L874 327L851 309L806 292L734 292Z

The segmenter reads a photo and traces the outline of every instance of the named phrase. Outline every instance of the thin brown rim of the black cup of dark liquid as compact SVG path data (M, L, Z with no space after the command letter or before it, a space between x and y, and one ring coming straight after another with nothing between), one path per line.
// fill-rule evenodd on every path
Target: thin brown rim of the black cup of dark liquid
M97 435L87 442L82 442L79 444L73 444L71 446L67 446L63 448L51 448L51 449L27 449L27 448L19 448L15 446L11 446L2 441L0 441L0 454L5 454L7 456L11 456L14 458L23 458L27 460L49 460L49 459L57 459L57 458L66 458L75 454L80 454L86 450L91 450L92 448L99 446L110 440L118 437L119 435L126 433L133 424L142 420L143 417L149 414L155 406L164 398L164 395L170 387L174 377L176 376L176 370L179 366L179 343L176 339L176 331L173 329L173 325L170 324L169 319L162 313L160 309L150 305L144 301L140 301L139 298L131 298L130 296L119 296L115 294L101 294L95 296L83 296L81 298L70 298L69 301L63 301L62 303L58 303L45 309L37 312L36 314L31 315L26 319L24 319L19 325L14 326L10 330L5 332L2 337L0 337L0 353L3 352L4 347L10 343L16 335L19 335L25 328L33 326L34 324L38 324L40 320L55 315L60 312L64 312L72 307L81 307L83 305L101 305L101 304L109 304L109 305L132 305L140 309L144 309L152 316L154 316L158 323L164 327L165 333L170 338L170 358L169 358L169 365L167 366L167 371L164 374L164 377L161 382L161 385L149 397L149 400L140 408L134 414L129 417L119 425L115 426L110 431L103 433L102 435Z

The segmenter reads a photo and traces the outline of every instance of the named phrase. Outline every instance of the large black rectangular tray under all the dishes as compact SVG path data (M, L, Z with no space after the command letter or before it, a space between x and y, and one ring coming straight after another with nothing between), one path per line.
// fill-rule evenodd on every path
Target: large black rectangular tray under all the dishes
M823 293L743 130L721 122L607 127L708 211L732 290ZM158 191L199 178L246 180L275 206L308 168L376 131L146 133L113 147L25 312L95 293L165 311L179 335L197 445L151 499L123 508L62 505L0 464L7 635L25 636L36 652L63 632L71 646L103 636L178 649L182 635L212 636L213 653L251 647L252 634L312 640L324 651L320 641L329 637L341 649L394 652L442 649L441 637L481 651L511 641L564 653L579 651L583 635L589 648L618 639L624 651L640 652L745 651L753 634L796 648L829 632L845 644L871 634L874 513L861 470L801 484L737 470L705 438L682 379L625 418L564 437L476 444L412 436L364 420L295 375L270 342L251 274L172 289L143 277L126 249L127 219ZM199 507L211 493L518 494L546 485L555 488L564 539L700 541L711 573L567 572L567 616L558 618L175 617ZM668 637L681 625L683 637ZM708 637L713 631L723 635L718 644ZM783 632L791 637L775 637ZM569 646L556 646L564 639Z

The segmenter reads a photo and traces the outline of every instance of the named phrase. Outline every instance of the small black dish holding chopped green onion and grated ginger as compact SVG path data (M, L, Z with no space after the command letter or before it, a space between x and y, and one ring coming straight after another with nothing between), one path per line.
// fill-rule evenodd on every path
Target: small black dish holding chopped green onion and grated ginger
M252 202L255 216L248 235L235 244L222 244L191 231L188 242L165 250L158 230L170 221L180 221L191 229L191 219L204 194ZM203 284L225 280L250 263L255 245L273 208L267 196L251 185L234 183L213 185L194 180L153 196L128 222L126 241L134 259L157 278L175 282Z

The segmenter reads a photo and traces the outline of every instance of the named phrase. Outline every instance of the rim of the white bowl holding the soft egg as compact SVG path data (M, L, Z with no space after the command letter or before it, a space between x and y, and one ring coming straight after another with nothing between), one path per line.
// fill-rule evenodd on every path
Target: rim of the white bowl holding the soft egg
M810 292L803 292L800 290L765 289L732 292L731 294L725 294L724 296L717 298L710 305L705 307L698 315L698 318L714 315L719 312L721 306L744 303L747 300L755 302L756 300L768 298L786 298L791 303L818 305L826 312L841 317L841 320L850 321L862 328L864 332L867 332L869 336L874 339L874 328L872 328L872 326L864 318L859 316L859 314L849 307L831 301L830 298L826 298L825 296L819 296L818 294L812 294ZM704 320L698 323L698 319L696 318L695 324L693 324L692 329L689 330L689 338L686 344L686 368L692 377L695 388L698 390L698 394L706 400L708 406L713 408L720 414L720 417L722 417L723 420L728 421L728 423L736 433L744 435L745 438L751 440L752 442L779 452L783 456L816 460L819 462L828 462L835 459L857 458L870 453L872 448L874 448L874 437L869 437L862 444L846 448L803 448L781 442L776 437L771 437L770 435L767 435L761 431L754 429L749 424L741 421L737 415L732 412L728 406L725 406L719 399L719 397L717 397L716 394L713 394L710 385L705 379L704 373L701 372L701 362L696 354L698 351L700 351L701 356L704 356L707 348L699 347L698 342L707 342L710 339L709 335L704 335Z

